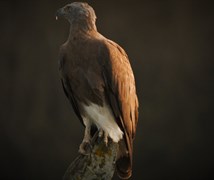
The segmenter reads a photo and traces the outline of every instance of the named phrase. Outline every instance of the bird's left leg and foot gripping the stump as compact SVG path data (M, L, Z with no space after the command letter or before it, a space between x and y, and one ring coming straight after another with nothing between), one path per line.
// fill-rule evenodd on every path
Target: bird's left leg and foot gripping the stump
M79 146L79 153L88 155L91 152L91 123L89 120L83 119L85 124L85 133L82 143Z

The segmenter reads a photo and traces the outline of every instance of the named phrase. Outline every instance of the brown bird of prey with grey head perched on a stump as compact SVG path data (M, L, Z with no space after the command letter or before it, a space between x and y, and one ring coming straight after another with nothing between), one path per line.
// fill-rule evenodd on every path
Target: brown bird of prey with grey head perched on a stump
M80 153L90 144L92 129L106 145L119 144L117 174L132 174L133 139L138 121L135 79L126 52L96 28L96 15L87 3L73 2L59 9L57 17L70 23L67 41L59 53L64 92L85 126Z

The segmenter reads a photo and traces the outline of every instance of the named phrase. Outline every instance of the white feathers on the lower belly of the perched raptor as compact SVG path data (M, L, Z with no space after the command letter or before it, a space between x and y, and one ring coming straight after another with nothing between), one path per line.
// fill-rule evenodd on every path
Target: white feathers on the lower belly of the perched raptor
M86 119L94 123L98 129L102 129L109 137L118 142L123 137L123 132L115 122L112 110L107 104L103 107L91 103L89 106L83 106L86 112Z

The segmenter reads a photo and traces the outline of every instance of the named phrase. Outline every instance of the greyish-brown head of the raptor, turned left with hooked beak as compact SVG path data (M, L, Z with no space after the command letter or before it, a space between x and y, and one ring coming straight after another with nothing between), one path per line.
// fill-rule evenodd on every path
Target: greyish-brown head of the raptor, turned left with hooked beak
M94 9L83 2L73 2L60 8L56 12L56 19L64 17L72 26L95 27L96 15Z

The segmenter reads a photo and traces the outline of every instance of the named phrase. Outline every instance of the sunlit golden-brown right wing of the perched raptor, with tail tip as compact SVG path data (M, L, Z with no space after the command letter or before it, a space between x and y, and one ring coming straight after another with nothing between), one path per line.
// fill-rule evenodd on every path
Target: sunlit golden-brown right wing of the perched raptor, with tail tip
M118 125L125 134L128 150L126 156L117 161L117 172L121 178L131 176L132 141L135 137L138 121L138 99L134 75L125 51L116 43L107 40L104 57L104 80L106 92Z

